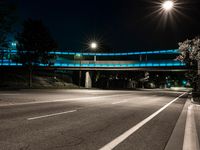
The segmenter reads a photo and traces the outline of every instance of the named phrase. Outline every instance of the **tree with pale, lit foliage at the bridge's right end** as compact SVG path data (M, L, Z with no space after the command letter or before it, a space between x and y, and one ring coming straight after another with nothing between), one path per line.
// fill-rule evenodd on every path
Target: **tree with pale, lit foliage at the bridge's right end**
M181 54L178 56L178 59L184 61L189 68L187 77L192 82L193 90L200 91L200 76L197 73L197 70L200 69L198 65L200 61L200 37L180 42L179 50Z

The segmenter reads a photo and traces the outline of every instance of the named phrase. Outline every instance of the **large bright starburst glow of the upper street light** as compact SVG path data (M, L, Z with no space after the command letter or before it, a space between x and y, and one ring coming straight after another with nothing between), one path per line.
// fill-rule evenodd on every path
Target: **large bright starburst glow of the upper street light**
M189 2L180 0L146 0L149 3L147 10L149 13L144 17L149 23L155 24L155 29L166 29L170 27L173 30L179 28L178 23L182 19L192 21L192 18L187 15L186 5ZM143 20L144 20L143 19Z

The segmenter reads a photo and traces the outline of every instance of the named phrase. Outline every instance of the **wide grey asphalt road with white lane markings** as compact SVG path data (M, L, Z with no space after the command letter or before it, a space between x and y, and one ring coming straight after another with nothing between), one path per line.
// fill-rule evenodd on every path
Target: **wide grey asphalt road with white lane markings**
M0 92L0 150L163 150L186 99L159 90Z

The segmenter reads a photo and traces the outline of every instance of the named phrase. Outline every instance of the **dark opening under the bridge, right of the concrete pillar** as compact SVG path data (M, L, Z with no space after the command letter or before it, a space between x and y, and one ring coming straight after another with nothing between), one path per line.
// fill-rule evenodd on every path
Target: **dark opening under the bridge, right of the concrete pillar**
M189 87L186 72L94 71L92 87L102 89Z

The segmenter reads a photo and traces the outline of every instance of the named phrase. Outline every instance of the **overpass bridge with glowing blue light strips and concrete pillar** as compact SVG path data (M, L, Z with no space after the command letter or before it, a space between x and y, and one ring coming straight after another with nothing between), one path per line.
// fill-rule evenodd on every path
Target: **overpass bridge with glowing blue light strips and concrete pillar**
M15 61L17 50L0 50L3 54L0 60L0 67L22 67L23 64ZM56 56L50 64L36 64L39 68L57 70L78 70L85 73L86 87L91 87L90 73L95 70L107 71L170 71L185 72L186 64L175 60L180 54L177 49L155 50L155 51L134 51L124 53L88 53L51 51L50 55ZM81 76L81 75L80 75Z

